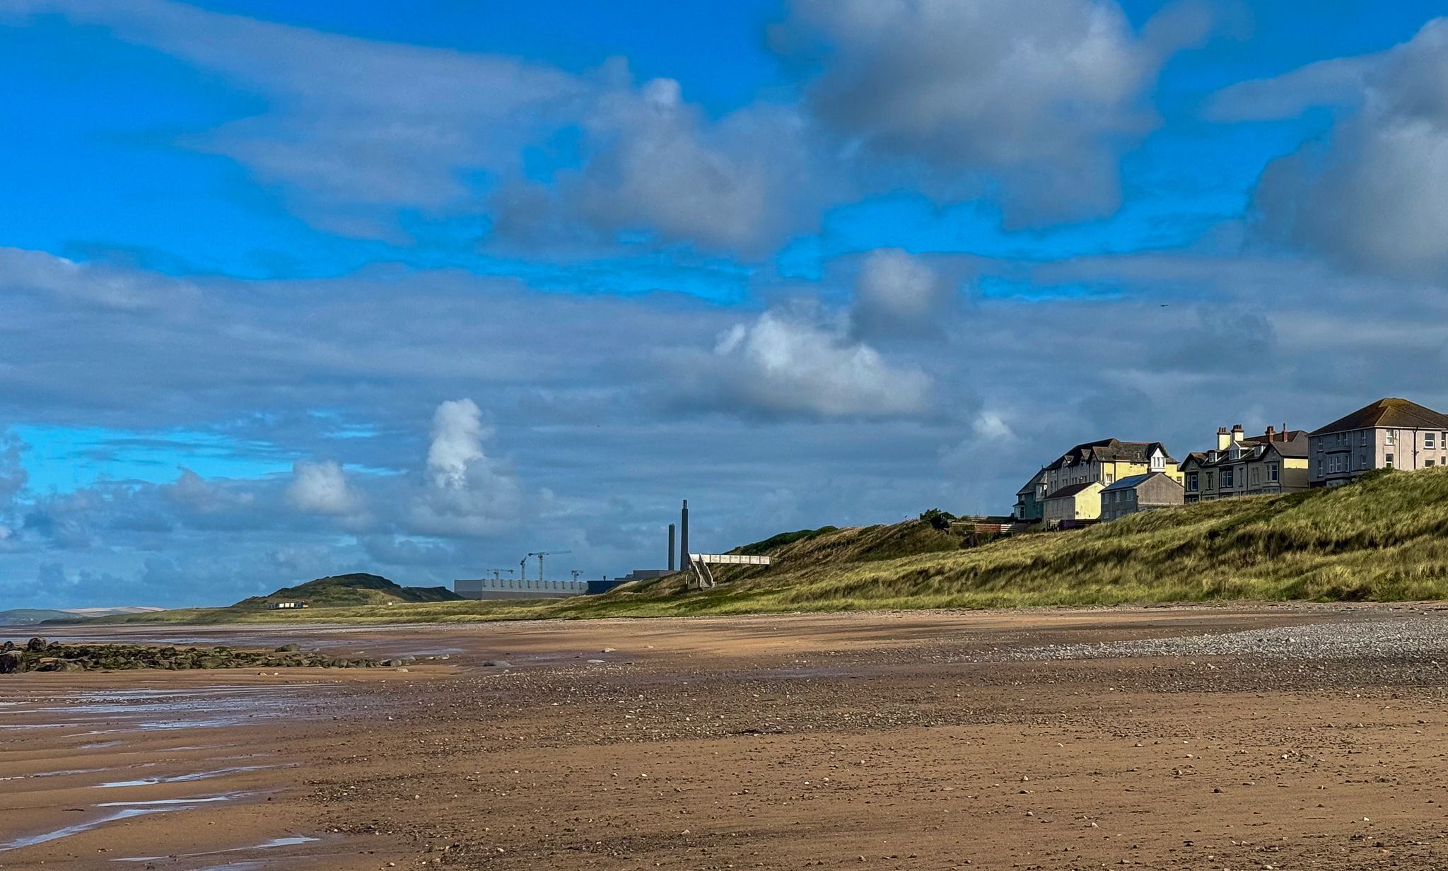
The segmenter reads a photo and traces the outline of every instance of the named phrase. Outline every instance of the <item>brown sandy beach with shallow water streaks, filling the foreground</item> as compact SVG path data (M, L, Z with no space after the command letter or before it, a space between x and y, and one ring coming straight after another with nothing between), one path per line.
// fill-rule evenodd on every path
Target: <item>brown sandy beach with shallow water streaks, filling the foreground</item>
M68 626L449 658L0 677L0 868L1448 867L1439 660L1015 655L1436 613Z

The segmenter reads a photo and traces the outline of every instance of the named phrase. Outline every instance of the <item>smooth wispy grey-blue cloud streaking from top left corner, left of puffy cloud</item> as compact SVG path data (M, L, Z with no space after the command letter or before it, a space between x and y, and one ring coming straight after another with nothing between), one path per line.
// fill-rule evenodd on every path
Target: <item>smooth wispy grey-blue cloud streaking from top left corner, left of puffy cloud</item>
M16 7L12 7L14 12ZM439 210L469 197L459 171L517 166L540 124L585 90L514 58L374 42L167 0L26 0L107 27L264 94L265 113L188 145L279 184L313 221L378 234L378 205Z

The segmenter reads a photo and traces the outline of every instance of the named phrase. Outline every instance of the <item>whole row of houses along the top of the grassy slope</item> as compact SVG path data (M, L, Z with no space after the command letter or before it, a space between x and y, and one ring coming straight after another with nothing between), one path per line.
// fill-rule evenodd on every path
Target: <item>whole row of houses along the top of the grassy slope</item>
M1015 496L1018 522L1070 528L1206 499L1292 493L1347 483L1374 469L1448 466L1448 415L1378 399L1310 433L1216 430L1215 447L1180 462L1160 441L1102 438L1070 449Z

